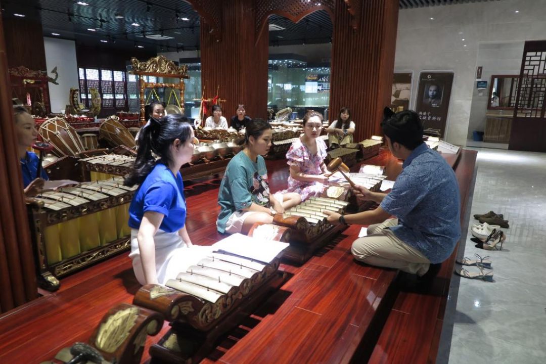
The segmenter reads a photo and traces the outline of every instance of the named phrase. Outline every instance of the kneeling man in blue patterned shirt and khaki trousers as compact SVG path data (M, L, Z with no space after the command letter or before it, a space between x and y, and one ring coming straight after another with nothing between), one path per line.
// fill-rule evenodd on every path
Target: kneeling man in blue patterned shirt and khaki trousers
M432 278L461 236L459 186L453 169L423 142L419 115L389 111L383 133L390 152L404 161L393 189L385 194L357 186L379 207L346 216L325 213L331 223L372 224L367 236L353 242L355 259Z

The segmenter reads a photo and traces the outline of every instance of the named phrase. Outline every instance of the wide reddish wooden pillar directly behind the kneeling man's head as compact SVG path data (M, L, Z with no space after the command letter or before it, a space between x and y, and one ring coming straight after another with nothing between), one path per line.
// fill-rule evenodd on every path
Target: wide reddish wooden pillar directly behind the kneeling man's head
M343 106L356 123L355 140L381 133L393 84L398 0L335 0L330 120ZM354 3L357 3L354 6ZM358 11L354 16L349 13ZM355 16L360 21L354 22ZM354 26L353 26L354 25Z

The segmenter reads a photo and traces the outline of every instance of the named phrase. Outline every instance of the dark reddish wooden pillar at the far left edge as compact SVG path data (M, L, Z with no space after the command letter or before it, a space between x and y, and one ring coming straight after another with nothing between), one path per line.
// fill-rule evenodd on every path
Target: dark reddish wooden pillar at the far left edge
M0 313L38 296L3 29L0 17Z

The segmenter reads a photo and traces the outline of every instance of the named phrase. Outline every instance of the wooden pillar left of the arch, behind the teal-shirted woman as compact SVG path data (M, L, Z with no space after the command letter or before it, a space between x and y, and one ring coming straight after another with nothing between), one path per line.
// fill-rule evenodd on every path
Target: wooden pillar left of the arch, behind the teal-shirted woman
M219 36L213 34L215 27L201 18L204 97L214 97L220 86L219 96L227 100L222 105L223 115L228 120L235 115L239 103L245 104L248 116L266 118L269 34L265 29L256 39L256 1L230 0L220 6Z

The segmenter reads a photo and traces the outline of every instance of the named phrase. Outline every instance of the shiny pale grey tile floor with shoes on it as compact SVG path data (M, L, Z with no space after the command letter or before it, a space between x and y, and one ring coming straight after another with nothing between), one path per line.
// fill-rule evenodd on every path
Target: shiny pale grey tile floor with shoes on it
M546 153L476 150L471 220L459 256L489 255L494 282L454 276L437 362L544 364ZM509 220L502 250L470 240L473 214L489 210Z

